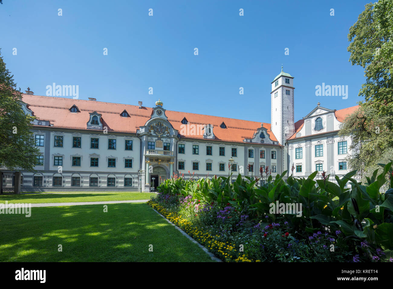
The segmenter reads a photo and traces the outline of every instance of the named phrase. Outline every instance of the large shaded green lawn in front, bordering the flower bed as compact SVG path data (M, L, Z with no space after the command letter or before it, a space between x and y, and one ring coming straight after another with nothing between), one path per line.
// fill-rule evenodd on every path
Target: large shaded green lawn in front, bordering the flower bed
M62 245L62 252L58 245ZM153 252L149 252L149 245ZM147 204L31 208L0 214L0 261L212 261Z

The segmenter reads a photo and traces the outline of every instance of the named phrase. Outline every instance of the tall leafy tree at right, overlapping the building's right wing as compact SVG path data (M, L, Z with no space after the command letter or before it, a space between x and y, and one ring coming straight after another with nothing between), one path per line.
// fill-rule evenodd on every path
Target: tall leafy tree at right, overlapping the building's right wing
M364 173L393 158L393 0L365 5L349 29L349 61L364 68L359 110L345 119L340 136L351 136L349 166Z

